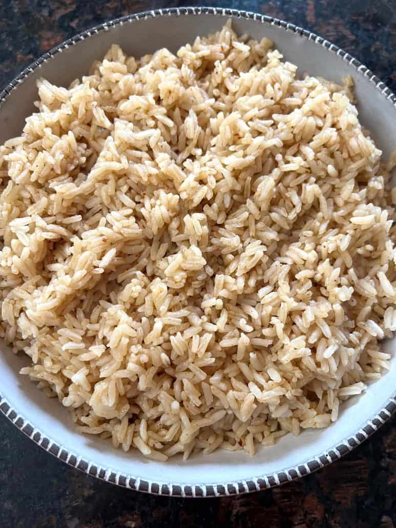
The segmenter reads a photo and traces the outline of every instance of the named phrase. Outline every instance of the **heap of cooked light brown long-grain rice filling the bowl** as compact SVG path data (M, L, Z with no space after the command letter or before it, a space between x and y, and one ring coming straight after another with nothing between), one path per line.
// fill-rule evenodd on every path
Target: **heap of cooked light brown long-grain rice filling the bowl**
M1 336L124 450L253 454L389 369L392 167L271 46L113 45L0 149Z

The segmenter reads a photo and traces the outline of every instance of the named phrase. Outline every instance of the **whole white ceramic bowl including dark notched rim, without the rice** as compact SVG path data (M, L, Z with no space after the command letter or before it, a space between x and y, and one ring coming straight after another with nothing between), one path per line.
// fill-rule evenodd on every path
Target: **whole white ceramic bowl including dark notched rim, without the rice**
M363 125L387 156L396 147L396 97L360 62L321 37L268 16L216 8L175 8L142 13L102 24L43 55L0 94L0 144L20 134L24 119L33 111L35 81L45 77L67 86L86 73L111 43L135 56L167 47L176 51L196 35L221 28L232 16L238 33L255 39L269 37L287 60L309 72L334 81L350 74ZM395 341L384 344L394 348ZM396 410L396 357L392 368L359 398L350 400L336 423L325 430L287 435L256 456L245 452L216 451L187 461L148 461L136 450L125 453L110 441L74 431L68 412L48 399L18 371L26 364L1 346L0 409L27 436L90 475L121 486L176 496L219 496L256 491L293 480L340 458L360 444ZM346 477L347 478L347 477Z

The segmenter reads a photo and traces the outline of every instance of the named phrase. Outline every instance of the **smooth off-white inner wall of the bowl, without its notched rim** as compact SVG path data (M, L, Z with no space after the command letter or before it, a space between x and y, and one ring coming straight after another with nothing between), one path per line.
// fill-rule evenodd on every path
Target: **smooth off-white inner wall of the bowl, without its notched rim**
M62 53L43 62L14 89L2 103L0 116L4 124L0 127L0 144L21 133L24 119L34 111L33 101L37 97L35 81L44 77L60 86L68 84L87 73L91 63L102 58L112 43L120 44L128 54L140 56L159 48L175 52L181 45L191 42L196 35L205 35L219 30L228 15L192 13L181 16L148 16L145 19L126 21L122 25L110 26L108 31L99 31L92 36L69 45ZM261 20L235 18L235 31L248 33L256 39L263 36L275 42L289 60L298 65L301 74L308 72L340 82L351 75L360 119L369 128L376 144L388 156L396 146L396 110L369 77L364 77L349 61L342 60L334 51L309 40L306 36L276 24ZM384 343L386 351L394 350L394 340ZM88 463L116 474L140 478L154 483L176 483L184 485L210 485L241 482L281 472L312 460L351 438L365 425L367 420L380 411L394 397L396 386L396 359L392 369L378 382L369 386L360 398L354 398L343 408L338 421L325 430L304 431L299 437L292 435L280 439L275 446L259 449L254 457L244 452L216 451L212 455L192 456L188 461L173 458L166 464L148 461L137 451L124 453L112 448L110 441L95 436L82 436L74 431L68 412L58 400L48 399L26 377L18 374L27 364L23 356L15 356L3 343L0 344L1 395L32 426L53 440L69 453L81 457Z

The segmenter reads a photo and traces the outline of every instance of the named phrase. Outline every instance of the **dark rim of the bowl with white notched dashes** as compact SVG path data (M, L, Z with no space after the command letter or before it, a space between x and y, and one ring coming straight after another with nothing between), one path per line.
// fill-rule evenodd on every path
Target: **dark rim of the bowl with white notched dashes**
M299 35L301 38L313 41L314 44L322 45L328 51L338 55L341 60L344 60L353 66L357 73L368 78L369 81L374 84L375 88L381 92L384 99L389 100L396 109L396 96L383 81L375 76L371 70L366 68L360 61L356 60L353 56L338 48L336 45L323 39L315 33L303 29L302 27L279 20L278 18L248 11L239 11L221 7L172 7L153 11L145 11L115 18L114 20L99 24L95 27L92 27L91 29L83 31L71 39L68 39L55 46L55 48L44 53L39 59L27 66L27 68L25 68L10 83L7 84L7 86L0 93L0 111L3 102L10 96L10 94L17 88L19 84L21 84L31 73L39 68L41 64L52 59L54 56L56 56L56 54L62 52L64 49L67 49L69 46L77 44L78 42L85 40L101 31L109 31L112 28L125 23L134 23L140 20L146 20L147 18L158 18L162 16L178 17L182 15L213 15L245 18L247 20L257 21L261 24L277 26L281 30L291 31ZM360 445L364 440L369 438L376 430L378 430L383 425L383 423L392 417L392 414L396 412L396 391L394 391L392 396L383 404L383 407L378 411L378 413L366 420L362 426L355 431L353 436L344 439L339 445L334 446L328 451L320 452L319 454L312 456L297 466L285 468L276 473L249 477L246 480L241 480L238 482L225 482L224 484L196 483L192 485L184 483L162 482L161 480L154 482L153 480L145 480L139 476L134 477L131 475L120 474L109 467L97 465L95 461L84 460L75 452L65 450L61 445L59 445L59 442L51 439L51 437L47 435L46 432L35 428L30 420L23 416L23 413L14 408L11 403L8 402L5 395L3 395L1 391L0 411L5 415L6 418L8 418L8 420L10 420L18 429L20 429L26 436L32 439L37 445L48 451L53 456L64 461L69 466L77 468L88 475L105 480L111 484L116 484L118 486L146 493L176 497L219 497L250 493L278 486L286 482L291 482L292 480L305 476L319 468L331 464L335 460L341 458L347 452L350 452L352 449Z

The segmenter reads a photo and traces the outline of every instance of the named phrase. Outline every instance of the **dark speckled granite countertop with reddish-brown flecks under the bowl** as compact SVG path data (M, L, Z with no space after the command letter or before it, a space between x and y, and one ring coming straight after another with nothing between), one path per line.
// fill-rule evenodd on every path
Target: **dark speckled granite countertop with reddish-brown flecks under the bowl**
M0 86L72 35L129 13L191 2L0 0ZM205 2L282 18L344 48L396 91L392 0ZM337 463L239 497L157 497L111 486L49 456L0 416L0 527L396 526L396 417Z

